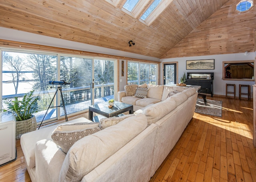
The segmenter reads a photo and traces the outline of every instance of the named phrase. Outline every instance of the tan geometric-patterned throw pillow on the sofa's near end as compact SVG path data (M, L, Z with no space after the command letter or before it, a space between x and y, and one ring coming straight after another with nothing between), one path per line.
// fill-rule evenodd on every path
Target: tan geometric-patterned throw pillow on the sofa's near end
M71 130L71 131L54 131L52 133L52 140L60 146L64 153L68 153L68 150L74 143L78 140L86 137L88 135L92 135L100 131L99 127Z

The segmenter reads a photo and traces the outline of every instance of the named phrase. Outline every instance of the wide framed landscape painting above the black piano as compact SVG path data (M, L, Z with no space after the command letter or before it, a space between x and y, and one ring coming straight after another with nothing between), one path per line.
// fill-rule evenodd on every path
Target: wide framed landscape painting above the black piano
M214 70L214 59L188 60L187 70Z

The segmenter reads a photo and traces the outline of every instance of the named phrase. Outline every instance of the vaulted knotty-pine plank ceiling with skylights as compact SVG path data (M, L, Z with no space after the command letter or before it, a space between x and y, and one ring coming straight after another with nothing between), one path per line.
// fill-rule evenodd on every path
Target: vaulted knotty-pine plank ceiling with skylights
M241 23L252 22L248 14L235 12L238 2L173 0L147 25L105 0L1 0L0 26L158 58L242 52L241 46L219 46L249 29L238 42L246 38L250 51L255 6L249 17L254 23L246 28ZM132 47L130 40L135 43Z

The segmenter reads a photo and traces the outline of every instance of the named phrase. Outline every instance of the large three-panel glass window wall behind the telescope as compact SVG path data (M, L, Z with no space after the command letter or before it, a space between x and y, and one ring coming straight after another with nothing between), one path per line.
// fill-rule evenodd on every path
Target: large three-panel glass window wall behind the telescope
M68 115L84 112L91 104L114 98L115 60L38 53L1 49L2 55L2 109L7 109L3 100L22 98L25 93L34 90L39 96L38 111L34 115L40 123L64 117L59 85L49 81L65 81L70 84L62 86L62 95ZM56 99L51 100L55 94ZM60 106L60 107L59 107Z

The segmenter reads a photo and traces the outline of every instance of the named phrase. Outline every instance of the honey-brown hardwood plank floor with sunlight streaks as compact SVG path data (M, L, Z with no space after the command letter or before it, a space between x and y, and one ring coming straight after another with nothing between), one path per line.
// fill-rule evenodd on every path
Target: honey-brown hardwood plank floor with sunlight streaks
M253 102L222 100L222 117L194 114L150 182L256 182ZM31 182L20 141L17 159L0 167L0 182Z

